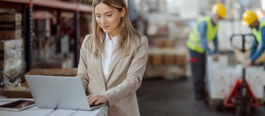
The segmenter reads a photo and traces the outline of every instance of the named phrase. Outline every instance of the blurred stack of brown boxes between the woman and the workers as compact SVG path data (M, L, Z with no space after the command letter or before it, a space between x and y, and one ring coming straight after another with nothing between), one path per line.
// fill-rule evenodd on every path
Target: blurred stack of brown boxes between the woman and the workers
M176 47L149 47L144 77L173 79L186 76L187 48L178 43Z

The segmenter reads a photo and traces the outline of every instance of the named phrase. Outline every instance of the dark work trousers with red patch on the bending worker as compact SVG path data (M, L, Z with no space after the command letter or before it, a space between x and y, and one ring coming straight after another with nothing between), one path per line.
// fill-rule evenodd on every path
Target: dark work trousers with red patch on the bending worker
M206 55L189 49L195 98L204 98Z

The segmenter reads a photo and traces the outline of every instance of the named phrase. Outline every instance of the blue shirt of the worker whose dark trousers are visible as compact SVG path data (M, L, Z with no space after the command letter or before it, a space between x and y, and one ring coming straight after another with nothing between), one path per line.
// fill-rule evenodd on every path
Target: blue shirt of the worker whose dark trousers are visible
M213 23L213 21L211 20L211 22ZM213 25L215 25L213 23ZM200 39L201 39L201 45L203 47L203 49L206 51L206 53L208 55L213 55L214 52L208 47L208 44L207 44L207 39L206 39L206 32L207 32L207 23L206 21L202 21L199 26L198 26L198 30L200 32ZM214 46L215 46L215 53L216 54L219 54L220 51L219 51L219 48L218 48L218 38L217 38L217 33L215 35L215 39L213 39L213 43L214 43Z

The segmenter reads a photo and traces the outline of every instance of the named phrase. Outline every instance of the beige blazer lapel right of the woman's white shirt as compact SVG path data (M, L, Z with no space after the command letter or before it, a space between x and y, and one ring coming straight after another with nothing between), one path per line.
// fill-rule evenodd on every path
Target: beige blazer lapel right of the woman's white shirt
M110 67L108 70L108 76L107 76L107 80L106 83L108 82L110 75L112 74L113 69L115 68L116 64L118 63L118 61L120 60L120 50L117 50L117 52L115 52L115 54L112 56L111 58L111 62L110 62Z

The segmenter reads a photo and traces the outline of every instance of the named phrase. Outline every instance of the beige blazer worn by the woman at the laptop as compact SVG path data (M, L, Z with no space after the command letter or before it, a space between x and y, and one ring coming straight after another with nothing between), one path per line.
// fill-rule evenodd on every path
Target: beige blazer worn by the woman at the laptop
M137 51L135 46L126 57L120 57L118 50L112 56L106 83L104 82L99 58L88 50L91 35L87 35L80 50L77 77L80 77L87 95L103 94L108 98L108 116L139 116L136 90L140 87L148 57L147 37L141 38Z

